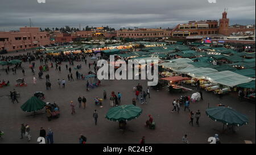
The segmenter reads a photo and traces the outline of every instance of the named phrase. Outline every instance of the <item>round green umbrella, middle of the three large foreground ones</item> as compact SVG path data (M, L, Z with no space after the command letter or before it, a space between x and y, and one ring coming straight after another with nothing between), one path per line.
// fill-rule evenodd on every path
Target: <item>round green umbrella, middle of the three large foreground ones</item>
M110 108L105 118L119 122L137 119L141 114L142 108L129 104Z

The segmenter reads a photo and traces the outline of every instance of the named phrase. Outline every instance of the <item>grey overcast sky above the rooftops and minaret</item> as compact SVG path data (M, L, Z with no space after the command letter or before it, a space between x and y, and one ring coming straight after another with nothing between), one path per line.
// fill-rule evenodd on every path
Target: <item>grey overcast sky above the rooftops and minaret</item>
M174 27L189 20L220 19L255 24L255 0L1 0L0 31L34 27Z

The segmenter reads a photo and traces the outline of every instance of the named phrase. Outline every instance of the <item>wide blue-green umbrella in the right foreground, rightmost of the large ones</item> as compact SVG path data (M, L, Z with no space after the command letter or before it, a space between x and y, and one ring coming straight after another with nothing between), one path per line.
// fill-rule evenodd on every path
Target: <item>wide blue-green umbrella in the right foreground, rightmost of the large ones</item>
M230 107L212 107L208 108L206 114L209 118L215 122L222 122L224 125L242 126L248 123L247 116L240 114L236 110Z

